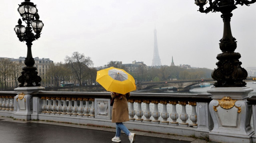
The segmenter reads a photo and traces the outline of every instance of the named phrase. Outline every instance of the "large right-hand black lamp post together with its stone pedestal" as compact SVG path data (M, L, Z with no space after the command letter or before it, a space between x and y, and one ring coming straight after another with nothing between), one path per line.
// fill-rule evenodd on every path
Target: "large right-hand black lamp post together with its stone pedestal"
M246 5L256 0L209 0L209 7L204 9L208 0L195 0L199 12L221 12L224 22L223 37L220 39L220 50L217 55L219 60L217 68L212 72L212 78L217 80L214 88L207 92L212 94L212 101L209 104L210 114L214 122L213 129L209 130L209 139L225 143L250 143L254 130L250 125L252 106L248 105L248 93L252 88L246 87L243 80L248 76L247 71L241 67L239 61L241 55L235 53L236 39L232 36L230 20L232 11L236 5ZM200 126L200 125L198 125Z

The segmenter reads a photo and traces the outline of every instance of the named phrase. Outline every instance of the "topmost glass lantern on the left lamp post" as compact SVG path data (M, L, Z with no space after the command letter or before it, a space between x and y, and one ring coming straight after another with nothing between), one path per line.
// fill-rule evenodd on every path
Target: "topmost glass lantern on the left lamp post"
M22 16L22 20L25 21L26 24L29 24L32 22L32 20L34 20L34 16L37 13L37 8L33 2L30 2L30 0L25 0L25 2L19 4L18 12L20 13L20 16Z

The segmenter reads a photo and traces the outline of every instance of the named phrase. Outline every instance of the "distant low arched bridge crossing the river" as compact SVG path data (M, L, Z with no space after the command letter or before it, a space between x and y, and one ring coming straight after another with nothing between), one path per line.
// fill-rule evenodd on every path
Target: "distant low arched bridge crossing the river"
M176 87L178 91L188 91L191 86L201 83L201 79L197 80L168 80L160 82L139 82L136 84L138 90L147 90L153 88L172 86ZM213 79L204 79L204 82L209 82L213 84L215 81Z

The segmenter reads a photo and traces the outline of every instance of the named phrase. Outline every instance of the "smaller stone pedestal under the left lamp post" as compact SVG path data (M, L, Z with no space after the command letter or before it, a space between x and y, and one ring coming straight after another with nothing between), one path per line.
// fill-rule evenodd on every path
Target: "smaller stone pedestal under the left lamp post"
M30 120L31 114L33 113L33 100L34 106L37 107L39 105L38 99L32 99L31 94L37 93L39 90L45 89L44 87L18 87L15 88L18 92L18 95L14 97L14 106L16 109L16 113L13 115L13 118L16 119L24 119L24 120ZM37 108L38 109L38 108Z

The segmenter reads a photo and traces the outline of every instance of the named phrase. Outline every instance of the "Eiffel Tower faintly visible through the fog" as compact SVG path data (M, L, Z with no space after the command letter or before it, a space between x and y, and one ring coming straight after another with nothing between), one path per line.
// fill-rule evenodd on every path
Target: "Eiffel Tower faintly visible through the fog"
M152 66L160 66L161 60L158 53L158 47L157 47L157 37L156 37L156 28L154 29L154 53L153 53L153 60L152 60Z

